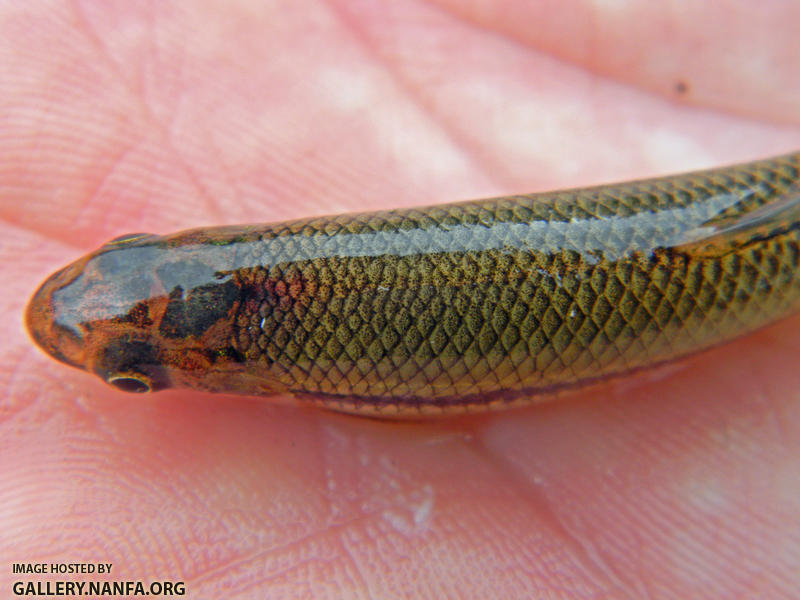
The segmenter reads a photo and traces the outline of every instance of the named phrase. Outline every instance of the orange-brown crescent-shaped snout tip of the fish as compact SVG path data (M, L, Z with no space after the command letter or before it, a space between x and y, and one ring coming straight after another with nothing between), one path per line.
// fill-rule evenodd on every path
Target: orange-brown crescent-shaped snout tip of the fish
M86 261L79 260L48 277L31 297L25 309L25 327L33 341L53 358L85 369L83 337L57 322L53 294L80 275Z

